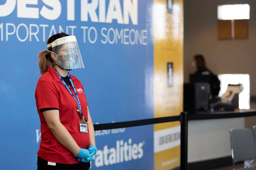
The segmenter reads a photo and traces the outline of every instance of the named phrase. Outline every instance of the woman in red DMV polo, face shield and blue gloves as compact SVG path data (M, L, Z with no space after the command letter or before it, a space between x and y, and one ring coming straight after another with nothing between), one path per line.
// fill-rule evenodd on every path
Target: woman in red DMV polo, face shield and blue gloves
M81 82L68 71L84 68L75 36L59 33L39 53L35 98L41 122L40 169L89 169L97 152L94 127Z

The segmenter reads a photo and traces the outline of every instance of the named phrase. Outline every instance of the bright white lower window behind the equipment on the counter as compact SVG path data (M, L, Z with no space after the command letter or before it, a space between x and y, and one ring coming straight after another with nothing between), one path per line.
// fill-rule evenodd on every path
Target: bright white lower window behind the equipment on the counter
M229 84L242 84L243 91L239 94L239 109L250 109L250 75L249 74L218 74L220 80L219 97L226 92Z

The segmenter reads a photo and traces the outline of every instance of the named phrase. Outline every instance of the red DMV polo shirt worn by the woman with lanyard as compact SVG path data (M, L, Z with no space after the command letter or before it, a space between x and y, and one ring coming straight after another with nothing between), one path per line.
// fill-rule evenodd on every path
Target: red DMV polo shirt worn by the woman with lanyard
M84 117L88 120L87 100L81 82L71 75L73 83L78 93L81 103L81 109ZM71 87L73 95L75 93ZM54 68L48 67L38 80L35 92L37 111L41 122L41 141L37 155L47 161L56 163L81 163L77 158L57 141L51 130L49 129L43 113L43 108L58 108L60 114L60 122L65 126L71 136L81 148L87 148L90 143L89 130L88 133L81 133L79 121L81 116L77 113L77 103L70 95L65 85L61 82L59 75Z

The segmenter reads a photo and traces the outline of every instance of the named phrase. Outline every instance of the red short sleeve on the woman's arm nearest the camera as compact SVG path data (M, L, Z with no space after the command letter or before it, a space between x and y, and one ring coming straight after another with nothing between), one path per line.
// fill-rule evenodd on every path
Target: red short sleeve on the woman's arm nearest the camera
M59 109L59 96L52 82L46 80L38 82L36 87L36 100L39 110L43 108Z

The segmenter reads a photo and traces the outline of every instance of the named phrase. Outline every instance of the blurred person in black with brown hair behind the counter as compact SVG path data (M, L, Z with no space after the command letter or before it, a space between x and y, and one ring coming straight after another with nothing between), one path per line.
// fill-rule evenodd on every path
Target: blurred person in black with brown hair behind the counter
M211 86L210 99L216 98L220 91L220 81L216 75L214 75L205 64L205 59L201 54L194 56L192 66L197 69L197 71L190 75L190 83L196 82L206 82Z

